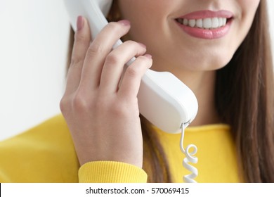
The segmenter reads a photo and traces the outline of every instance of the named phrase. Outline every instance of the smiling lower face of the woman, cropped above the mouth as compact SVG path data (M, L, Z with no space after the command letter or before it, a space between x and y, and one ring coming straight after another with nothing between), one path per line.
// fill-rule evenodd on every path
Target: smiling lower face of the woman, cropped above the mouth
M117 0L130 39L152 55L152 69L215 70L230 61L260 0Z

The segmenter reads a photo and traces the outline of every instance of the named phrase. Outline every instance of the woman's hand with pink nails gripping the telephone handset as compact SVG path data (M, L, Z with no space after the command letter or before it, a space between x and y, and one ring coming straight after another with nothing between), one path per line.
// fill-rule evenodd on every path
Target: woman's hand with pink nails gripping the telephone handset
M141 77L152 65L151 56L144 55L143 44L133 41L112 50L113 44L129 32L127 20L108 24L93 42L85 18L78 18L77 28L60 109L79 163L112 160L142 167L137 94ZM122 78L124 64L133 56L136 61Z

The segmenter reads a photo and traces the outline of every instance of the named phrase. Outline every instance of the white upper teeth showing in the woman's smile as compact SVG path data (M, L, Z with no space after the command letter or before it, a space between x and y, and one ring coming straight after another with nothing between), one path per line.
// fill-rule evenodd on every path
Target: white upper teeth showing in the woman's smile
M201 18L201 19L185 19L178 18L178 23L188 25L190 27L199 27L204 29L215 29L226 25L226 18Z

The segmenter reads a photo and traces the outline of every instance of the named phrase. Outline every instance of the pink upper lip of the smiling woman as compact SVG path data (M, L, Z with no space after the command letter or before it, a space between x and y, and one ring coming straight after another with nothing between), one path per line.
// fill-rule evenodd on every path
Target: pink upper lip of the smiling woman
M220 10L220 11L195 11L192 13L187 13L178 18L185 18L188 20L191 19L200 19L200 18L233 18L233 13L230 11Z

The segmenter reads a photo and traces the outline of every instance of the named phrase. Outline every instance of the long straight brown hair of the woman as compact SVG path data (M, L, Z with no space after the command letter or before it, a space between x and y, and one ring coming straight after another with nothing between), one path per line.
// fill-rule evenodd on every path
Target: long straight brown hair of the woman
M119 19L113 1L108 20ZM268 27L266 0L261 0L247 37L216 75L216 109L231 126L246 182L274 182L274 72ZM73 32L70 38L72 49ZM172 182L156 132L143 116L141 124L148 182Z

